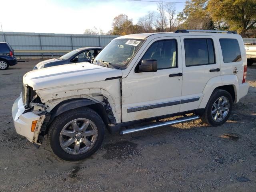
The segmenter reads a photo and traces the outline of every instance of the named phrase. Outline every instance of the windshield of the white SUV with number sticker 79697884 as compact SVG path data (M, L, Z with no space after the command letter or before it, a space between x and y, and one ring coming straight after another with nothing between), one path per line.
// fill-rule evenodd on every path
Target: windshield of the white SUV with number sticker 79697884
M143 42L141 39L114 39L96 56L93 64L126 68Z

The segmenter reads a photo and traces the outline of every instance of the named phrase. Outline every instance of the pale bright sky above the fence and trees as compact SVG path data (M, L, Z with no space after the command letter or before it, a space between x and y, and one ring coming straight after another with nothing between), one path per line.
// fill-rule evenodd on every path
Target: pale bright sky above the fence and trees
M178 12L184 8L184 3L175 5ZM129 0L0 0L0 7L4 32L63 34L83 34L94 26L108 32L119 14L128 15L136 24L148 11L157 11L156 2Z

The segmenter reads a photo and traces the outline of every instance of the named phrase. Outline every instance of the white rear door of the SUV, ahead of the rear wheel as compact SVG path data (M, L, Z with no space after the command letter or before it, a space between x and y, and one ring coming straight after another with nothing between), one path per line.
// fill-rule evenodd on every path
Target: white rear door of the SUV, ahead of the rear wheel
M180 39L183 66L180 112L183 112L199 107L206 83L220 77L221 68L213 36L181 36Z

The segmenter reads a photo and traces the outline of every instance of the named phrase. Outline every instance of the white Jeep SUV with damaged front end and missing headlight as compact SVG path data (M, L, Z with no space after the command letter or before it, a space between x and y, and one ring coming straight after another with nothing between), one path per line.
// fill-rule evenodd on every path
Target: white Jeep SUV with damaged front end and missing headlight
M122 135L199 118L224 124L248 92L246 69L244 43L235 32L120 36L92 64L25 74L12 116L16 132L30 142L40 146L48 134L58 157L80 160L98 150L105 128Z

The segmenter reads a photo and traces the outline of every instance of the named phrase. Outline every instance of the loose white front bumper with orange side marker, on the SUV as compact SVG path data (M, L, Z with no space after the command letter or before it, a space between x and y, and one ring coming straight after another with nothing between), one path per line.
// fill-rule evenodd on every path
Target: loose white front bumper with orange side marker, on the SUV
M22 102L22 93L12 106L12 118L18 134L26 137L32 143L41 145L38 142L38 135L44 122L45 114L36 114L35 112L26 110ZM35 124L34 128L32 128L33 122Z

